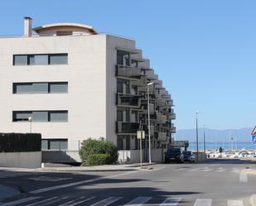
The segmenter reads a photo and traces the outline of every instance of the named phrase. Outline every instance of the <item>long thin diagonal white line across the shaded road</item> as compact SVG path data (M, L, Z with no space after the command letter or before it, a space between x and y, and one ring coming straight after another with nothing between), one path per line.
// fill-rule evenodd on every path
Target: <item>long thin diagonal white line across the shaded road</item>
M99 177L93 180L83 180L80 182L73 182L73 183L69 183L69 184L60 184L60 185L56 185L56 186L52 186L52 187L48 187L48 188L42 188L42 189L36 189L31 191L31 194L40 194L40 193L44 193L44 192L48 192L51 190L55 190L55 189L62 189L62 188L68 188L68 187L73 187L79 184L85 184L85 183L91 183L94 181L98 181L98 180L104 180L104 179L109 179L109 178L114 178L114 177L118 177L118 176L122 176L122 175L129 175L132 173L138 172L138 170L136 171L130 171L130 172L126 172L126 173L121 173L121 174L117 174L117 175L110 175L110 176L105 176L105 177Z

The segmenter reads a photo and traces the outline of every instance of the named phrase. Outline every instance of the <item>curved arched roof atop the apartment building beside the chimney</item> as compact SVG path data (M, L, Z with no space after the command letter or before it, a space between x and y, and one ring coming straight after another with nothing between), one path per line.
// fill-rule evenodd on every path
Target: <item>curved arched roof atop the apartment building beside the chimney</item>
M64 26L79 27L79 28L83 28L83 29L88 29L89 31L92 32L92 34L97 34L97 31L94 31L93 26L88 26L88 25L85 25L85 24L78 24L78 23L69 23L69 22L46 24L46 25L43 25L43 26L38 26L36 28L33 28L33 31L36 31L38 33L42 30L51 29L53 27L64 27Z

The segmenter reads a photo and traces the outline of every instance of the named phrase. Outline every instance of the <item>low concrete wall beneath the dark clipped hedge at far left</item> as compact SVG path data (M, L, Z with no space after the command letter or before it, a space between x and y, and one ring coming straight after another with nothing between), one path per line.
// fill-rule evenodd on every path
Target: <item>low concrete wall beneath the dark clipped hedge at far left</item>
M0 167L41 167L41 151L1 152Z

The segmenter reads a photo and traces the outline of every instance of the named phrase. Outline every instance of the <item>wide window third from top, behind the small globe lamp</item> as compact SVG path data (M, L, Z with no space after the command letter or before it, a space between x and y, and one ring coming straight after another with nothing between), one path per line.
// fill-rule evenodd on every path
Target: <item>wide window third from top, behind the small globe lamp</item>
M12 122L68 122L68 111L13 111Z

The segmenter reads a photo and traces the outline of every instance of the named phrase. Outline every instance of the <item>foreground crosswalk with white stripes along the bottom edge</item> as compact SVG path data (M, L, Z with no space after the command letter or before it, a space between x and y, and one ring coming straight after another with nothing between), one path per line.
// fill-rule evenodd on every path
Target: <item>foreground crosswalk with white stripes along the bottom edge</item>
M58 206L75 206L75 205L88 205L88 206L219 206L220 200L217 202L214 199L182 199L173 197L48 197L41 196L28 197L24 199L18 199L6 204L0 204L0 206L36 206L36 205L58 205ZM225 199L221 205L224 206L249 206L244 204L243 199ZM250 205L251 206L251 205Z

